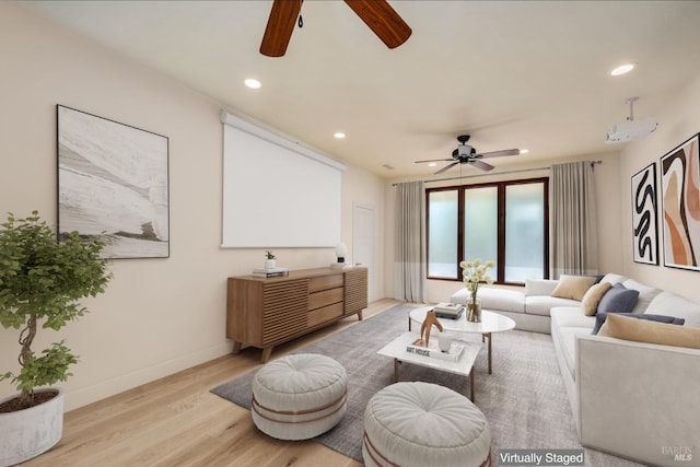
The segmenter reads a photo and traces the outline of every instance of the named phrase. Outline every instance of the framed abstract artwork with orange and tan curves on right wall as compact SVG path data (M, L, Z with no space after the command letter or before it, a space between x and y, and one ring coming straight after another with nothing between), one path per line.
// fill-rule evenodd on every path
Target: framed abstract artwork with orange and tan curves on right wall
M664 266L700 270L700 135L661 157Z

